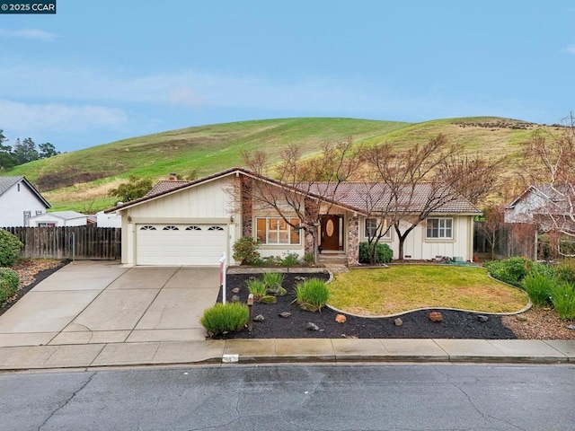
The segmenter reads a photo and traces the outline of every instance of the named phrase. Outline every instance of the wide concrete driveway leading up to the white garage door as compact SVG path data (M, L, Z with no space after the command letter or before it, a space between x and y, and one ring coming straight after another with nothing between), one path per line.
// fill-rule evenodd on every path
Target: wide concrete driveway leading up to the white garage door
M218 291L218 268L76 261L0 316L0 347L203 340Z

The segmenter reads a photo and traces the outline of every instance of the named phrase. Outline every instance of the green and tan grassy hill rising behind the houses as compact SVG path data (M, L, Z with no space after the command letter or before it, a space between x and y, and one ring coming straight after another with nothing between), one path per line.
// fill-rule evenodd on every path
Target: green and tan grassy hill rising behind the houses
M494 117L437 119L403 123L366 119L265 119L183 128L97 145L84 150L26 163L4 172L25 175L54 210L95 212L111 207L107 191L129 175L167 178L169 172L199 175L240 165L243 150L260 149L278 156L288 143L305 154L319 151L325 141L353 136L356 143L390 142L400 148L425 142L438 133L465 145L469 153L517 157L522 142L537 127L532 123Z

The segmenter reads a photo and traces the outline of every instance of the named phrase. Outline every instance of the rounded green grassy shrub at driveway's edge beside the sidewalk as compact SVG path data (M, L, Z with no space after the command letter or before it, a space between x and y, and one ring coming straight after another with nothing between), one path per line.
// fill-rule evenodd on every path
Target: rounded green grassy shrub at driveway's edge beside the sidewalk
M199 322L213 337L243 329L249 316L250 311L243 303L217 303L204 311Z

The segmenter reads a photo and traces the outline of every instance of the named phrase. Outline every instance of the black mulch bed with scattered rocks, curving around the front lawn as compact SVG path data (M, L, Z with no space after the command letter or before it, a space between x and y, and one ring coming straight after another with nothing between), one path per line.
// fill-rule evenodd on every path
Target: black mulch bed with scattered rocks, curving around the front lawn
M254 303L252 316L262 314L261 322L252 322L252 332L247 329L226 334L227 339L517 339L517 336L501 323L500 316L489 316L489 321L480 322L478 313L438 310L443 314L442 322L429 321L429 312L403 314L403 325L395 326L395 318L368 319L346 315L345 323L335 321L337 312L323 308L322 312L306 312L296 303L295 277L322 277L327 274L287 274L283 286L288 295L279 296L278 303ZM239 287L237 294L245 303L248 296L245 281L249 275L228 275L226 278L226 300L231 301L232 289ZM221 301L221 289L219 301ZM291 317L279 317L280 312L291 312ZM306 330L308 322L315 323L320 330Z

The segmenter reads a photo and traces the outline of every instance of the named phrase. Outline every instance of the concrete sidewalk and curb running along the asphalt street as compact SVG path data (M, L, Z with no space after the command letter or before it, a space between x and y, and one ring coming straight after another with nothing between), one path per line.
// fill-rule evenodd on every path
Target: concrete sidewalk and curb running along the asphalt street
M232 339L0 347L0 370L221 363L575 364L575 340Z

